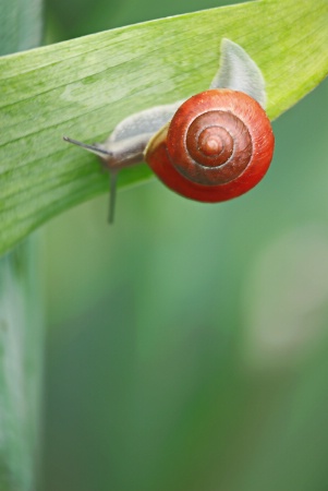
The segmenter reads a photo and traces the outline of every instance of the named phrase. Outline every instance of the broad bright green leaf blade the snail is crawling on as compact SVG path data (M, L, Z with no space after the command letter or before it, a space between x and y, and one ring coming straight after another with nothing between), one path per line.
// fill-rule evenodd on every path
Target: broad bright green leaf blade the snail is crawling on
M327 0L212 9L0 59L0 253L51 216L107 191L97 157L66 145L63 134L101 141L132 112L206 89L222 37L263 71L271 119L328 73ZM119 183L149 176L142 165L122 171Z

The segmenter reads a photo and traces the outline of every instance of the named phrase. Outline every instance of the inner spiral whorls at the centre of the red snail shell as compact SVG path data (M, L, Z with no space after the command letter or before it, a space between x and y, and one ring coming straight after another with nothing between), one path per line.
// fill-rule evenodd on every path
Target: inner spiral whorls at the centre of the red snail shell
M216 92L216 91L214 91ZM238 111L215 101L212 91L192 97L177 111L168 132L168 153L177 170L205 185L236 179L252 159L253 142ZM198 100L197 100L198 98ZM204 107L214 105L209 109ZM189 106L189 107L187 107ZM177 132L180 134L177 144Z

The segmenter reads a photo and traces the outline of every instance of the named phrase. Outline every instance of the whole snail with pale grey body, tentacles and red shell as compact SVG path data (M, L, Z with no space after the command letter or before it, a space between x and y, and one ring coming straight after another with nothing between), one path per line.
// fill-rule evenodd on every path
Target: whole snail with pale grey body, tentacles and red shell
M121 121L105 143L63 139L100 157L110 173L113 221L118 171L146 161L171 190L216 203L244 194L265 176L275 137L265 112L262 72L238 44L223 39L209 89Z

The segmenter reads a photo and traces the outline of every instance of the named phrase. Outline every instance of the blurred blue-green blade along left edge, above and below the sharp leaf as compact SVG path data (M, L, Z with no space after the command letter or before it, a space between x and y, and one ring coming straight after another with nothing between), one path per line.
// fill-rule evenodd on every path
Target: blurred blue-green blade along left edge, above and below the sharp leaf
M1 56L38 46L40 10L40 0L0 1ZM2 124L1 133L7 130ZM1 491L32 491L36 483L44 348L38 252L29 238L0 258Z

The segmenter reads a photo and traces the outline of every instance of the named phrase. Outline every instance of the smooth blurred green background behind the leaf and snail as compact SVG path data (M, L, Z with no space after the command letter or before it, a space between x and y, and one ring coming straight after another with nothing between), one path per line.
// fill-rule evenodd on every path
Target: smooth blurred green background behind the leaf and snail
M48 0L46 38L219 4ZM326 81L274 122L242 197L154 178L113 227L104 195L42 228L42 490L328 490L327 104Z

